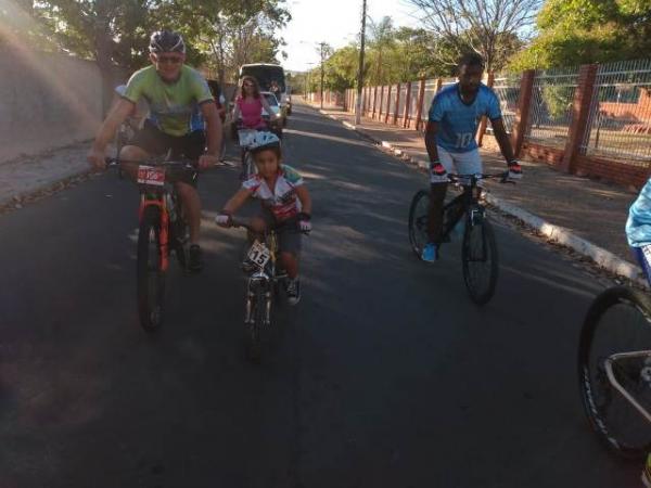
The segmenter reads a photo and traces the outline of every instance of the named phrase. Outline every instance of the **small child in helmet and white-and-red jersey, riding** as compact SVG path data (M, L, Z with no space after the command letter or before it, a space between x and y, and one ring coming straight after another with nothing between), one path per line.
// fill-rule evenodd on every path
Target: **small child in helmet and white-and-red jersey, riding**
M231 227L232 216L250 197L261 201L261 213L253 219L252 226L260 233L277 229L280 262L289 277L288 301L296 305L301 299L301 233L311 230L311 198L301 175L282 164L280 139L276 134L258 132L250 151L258 172L242 183L215 221L221 227Z

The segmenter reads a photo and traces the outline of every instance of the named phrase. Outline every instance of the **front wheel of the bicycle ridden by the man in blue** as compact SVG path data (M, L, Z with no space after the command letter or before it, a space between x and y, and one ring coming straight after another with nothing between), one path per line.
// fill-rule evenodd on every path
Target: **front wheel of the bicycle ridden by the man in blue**
M474 220L471 222L469 218L463 232L463 281L470 298L477 305L484 305L493 297L497 284L497 243L490 222L485 217L475 217Z

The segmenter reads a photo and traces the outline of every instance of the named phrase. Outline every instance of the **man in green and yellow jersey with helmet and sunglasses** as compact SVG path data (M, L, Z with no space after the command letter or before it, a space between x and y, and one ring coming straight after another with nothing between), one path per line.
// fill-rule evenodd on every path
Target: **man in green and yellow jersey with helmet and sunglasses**
M169 30L154 33L150 40L150 61L151 66L136 72L127 82L122 99L100 128L88 160L98 169L105 167L106 145L140 99L144 99L150 114L142 129L122 149L120 159L145 160L171 150L174 157L197 160L200 169L214 166L219 160L221 120L205 78L183 64L186 44L181 36ZM125 164L124 170L136 179L135 165ZM180 178L175 185L190 229L188 267L199 271L202 268L201 201L196 180Z

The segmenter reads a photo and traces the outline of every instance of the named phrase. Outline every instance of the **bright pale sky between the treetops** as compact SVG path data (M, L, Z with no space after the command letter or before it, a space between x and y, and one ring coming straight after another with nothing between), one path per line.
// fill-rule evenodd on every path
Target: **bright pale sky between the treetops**
M388 15L395 26L416 27L421 23L414 7L400 0L367 0L368 13L374 21ZM292 21L279 34L289 54L281 60L285 69L305 70L318 63L316 43L326 41L342 48L355 40L361 23L361 0L286 0Z

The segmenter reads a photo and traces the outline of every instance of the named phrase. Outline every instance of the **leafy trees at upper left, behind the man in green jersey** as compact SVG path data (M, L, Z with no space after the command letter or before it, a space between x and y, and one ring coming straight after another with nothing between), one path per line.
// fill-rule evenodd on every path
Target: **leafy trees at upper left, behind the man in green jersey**
M0 43L15 42L21 36L37 49L95 60L107 94L115 82L115 66L133 69L146 62L153 30L181 31L188 46L188 62L213 63L224 78L227 73L232 76L239 64L275 60L282 47L275 31L290 18L284 0L18 2L20 7L12 7L13 2L0 7L0 27L9 26L0 28Z

